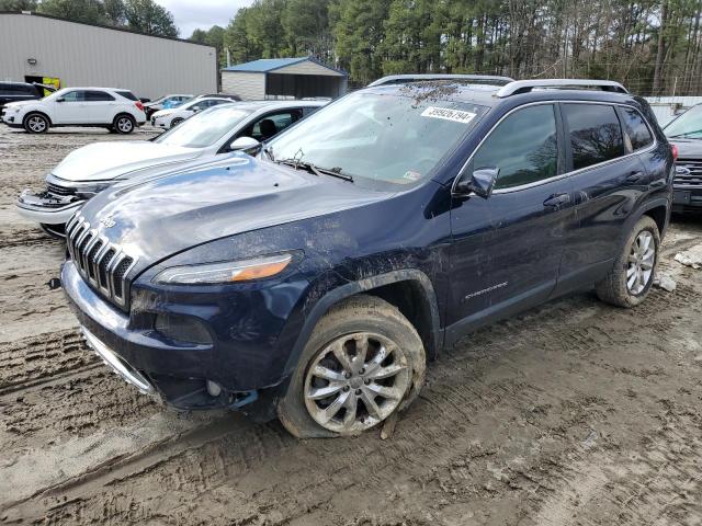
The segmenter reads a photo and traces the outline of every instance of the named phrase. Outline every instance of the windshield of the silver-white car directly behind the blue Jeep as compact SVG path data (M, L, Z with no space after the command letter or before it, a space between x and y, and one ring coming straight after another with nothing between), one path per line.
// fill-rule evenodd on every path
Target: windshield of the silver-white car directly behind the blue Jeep
M245 121L251 112L236 106L206 110L154 139L154 142L183 148L206 148L214 145Z

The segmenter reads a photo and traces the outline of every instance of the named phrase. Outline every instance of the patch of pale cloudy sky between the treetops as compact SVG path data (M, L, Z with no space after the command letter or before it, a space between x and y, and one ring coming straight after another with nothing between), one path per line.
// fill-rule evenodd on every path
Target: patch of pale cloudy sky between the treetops
M253 0L156 0L156 3L173 13L180 37L188 38L196 28L226 27L237 10Z

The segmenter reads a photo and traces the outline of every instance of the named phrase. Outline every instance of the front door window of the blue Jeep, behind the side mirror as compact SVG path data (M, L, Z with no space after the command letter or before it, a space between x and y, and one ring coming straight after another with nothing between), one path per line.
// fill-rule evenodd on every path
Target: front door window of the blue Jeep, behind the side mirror
M473 170L498 168L495 188L531 184L558 173L558 140L553 104L528 106L509 115L473 157Z

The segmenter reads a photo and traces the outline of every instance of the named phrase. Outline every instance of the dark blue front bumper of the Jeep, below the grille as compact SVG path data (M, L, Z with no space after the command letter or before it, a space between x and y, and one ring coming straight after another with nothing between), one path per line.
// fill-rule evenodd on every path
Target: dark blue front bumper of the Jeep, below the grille
M91 346L125 380L141 391L158 395L170 405L179 409L239 409L249 401L253 402L260 389L274 392L282 381L280 378L268 382L268 378L276 377L278 364L282 361L273 359L280 356L273 356L265 344L247 346L223 341L207 321L207 316L226 316L229 320L226 332L234 332L236 322L231 321L231 312L220 312L216 302L203 305L202 300L206 298L185 305L169 304L170 298L139 297L139 300L132 301L127 313L99 296L71 261L61 268L61 284L69 307ZM185 343L165 338L156 329L156 317L178 311L201 320L213 333L212 343ZM251 339L248 333L242 336ZM264 341L271 343L270 338ZM220 391L213 390L213 382ZM245 411L249 412L249 408ZM254 409L251 413L269 410Z

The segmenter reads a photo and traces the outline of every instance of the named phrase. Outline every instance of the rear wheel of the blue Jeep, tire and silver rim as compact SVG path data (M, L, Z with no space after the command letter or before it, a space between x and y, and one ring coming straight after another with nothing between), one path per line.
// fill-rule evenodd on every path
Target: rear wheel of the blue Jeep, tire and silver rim
M634 225L607 277L596 284L598 297L627 309L643 302L654 283L659 250L658 226L644 216Z

